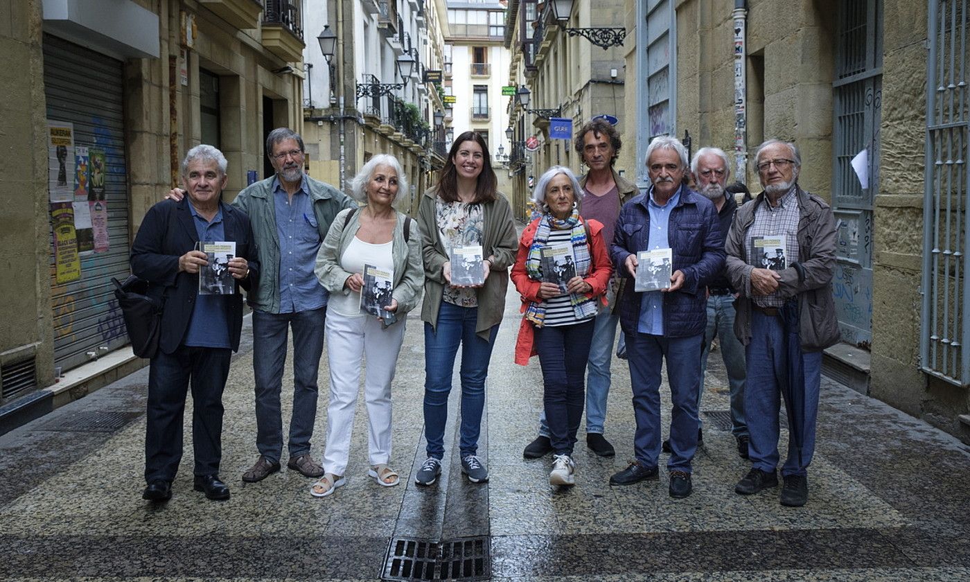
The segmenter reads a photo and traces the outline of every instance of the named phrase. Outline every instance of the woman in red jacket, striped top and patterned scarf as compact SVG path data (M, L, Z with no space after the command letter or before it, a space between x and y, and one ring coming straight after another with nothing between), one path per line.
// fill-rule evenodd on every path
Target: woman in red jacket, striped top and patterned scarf
M512 267L525 313L515 362L525 366L539 356L554 453L552 485L575 483L572 447L583 415L593 321L612 270L602 225L583 220L576 210L582 195L579 181L563 166L539 178L533 201L543 213L523 231Z

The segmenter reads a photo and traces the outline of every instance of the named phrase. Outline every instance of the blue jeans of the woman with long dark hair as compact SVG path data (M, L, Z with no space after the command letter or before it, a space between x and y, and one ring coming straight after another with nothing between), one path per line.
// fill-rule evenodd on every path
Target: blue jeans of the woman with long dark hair
M485 407L485 378L492 359L492 346L499 326L488 341L475 334L478 307L458 307L442 301L437 326L425 322L425 438L428 456L444 457L444 424L448 419L448 395L458 346L462 346L462 424L459 449L462 458L478 452L482 409Z

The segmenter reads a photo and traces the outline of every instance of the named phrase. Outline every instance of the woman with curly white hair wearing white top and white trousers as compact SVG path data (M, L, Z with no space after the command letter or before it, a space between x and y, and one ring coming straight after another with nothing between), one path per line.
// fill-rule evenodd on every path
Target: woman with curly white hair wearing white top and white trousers
M327 291L324 329L330 363L330 404L324 475L310 489L326 497L345 482L362 356L367 356L364 399L368 411L369 474L379 485L400 482L391 458L391 381L404 340L404 319L417 305L424 267L417 223L394 209L407 190L401 163L393 155L373 156L353 178L360 209L341 210L316 257L316 276ZM365 265L391 274L390 305L379 316L361 308Z

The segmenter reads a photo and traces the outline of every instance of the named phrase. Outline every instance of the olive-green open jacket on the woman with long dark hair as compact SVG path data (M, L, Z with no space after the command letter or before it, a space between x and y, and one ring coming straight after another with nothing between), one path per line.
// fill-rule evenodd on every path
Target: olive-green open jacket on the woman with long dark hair
M438 237L435 201L437 187L429 188L422 196L418 206L418 224L421 226L421 246L424 254L425 266L425 298L421 306L421 319L437 325L437 311L441 308L441 297L444 293L444 264L448 262L448 254L444 250L444 243ZM488 340L494 326L501 323L505 310L505 290L508 288L508 268L515 260L515 251L519 242L515 235L515 225L512 224L512 208L501 193L492 202L482 205L483 237L482 252L486 257L492 256L491 273L485 279L485 285L477 289L478 318L475 321L475 333L479 338Z

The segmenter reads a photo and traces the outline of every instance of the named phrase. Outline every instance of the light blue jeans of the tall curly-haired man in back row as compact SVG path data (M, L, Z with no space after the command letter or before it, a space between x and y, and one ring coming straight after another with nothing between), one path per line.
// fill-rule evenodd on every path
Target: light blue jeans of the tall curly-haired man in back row
M586 432L603 434L606 424L606 399L609 397L610 372L613 358L613 341L620 313L603 311L597 314L593 324L593 341L590 345L590 365L586 373ZM539 435L549 436L549 424L543 409L539 414Z

